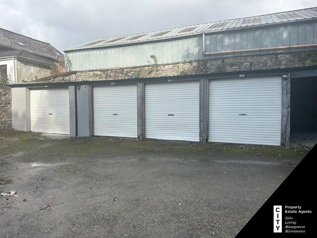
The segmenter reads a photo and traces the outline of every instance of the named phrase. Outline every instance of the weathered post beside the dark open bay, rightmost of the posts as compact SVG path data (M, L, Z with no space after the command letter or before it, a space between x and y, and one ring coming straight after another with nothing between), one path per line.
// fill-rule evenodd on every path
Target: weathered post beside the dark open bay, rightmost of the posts
M282 78L282 120L281 145L290 146L289 135L291 128L291 76Z

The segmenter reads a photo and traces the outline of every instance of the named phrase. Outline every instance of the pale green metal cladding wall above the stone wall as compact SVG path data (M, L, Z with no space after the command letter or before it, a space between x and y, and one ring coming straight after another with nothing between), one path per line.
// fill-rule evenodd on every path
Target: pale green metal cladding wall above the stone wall
M317 23L290 24L275 27L259 27L252 30L237 30L208 34L206 52L317 44ZM159 64L189 60L217 59L227 56L260 54L260 52L203 55L202 36L166 40L127 46L112 46L104 49L66 52L72 63L71 70L91 70L115 67L131 67L153 64L154 55ZM298 49L292 49L296 51ZM263 51L281 52L290 50Z

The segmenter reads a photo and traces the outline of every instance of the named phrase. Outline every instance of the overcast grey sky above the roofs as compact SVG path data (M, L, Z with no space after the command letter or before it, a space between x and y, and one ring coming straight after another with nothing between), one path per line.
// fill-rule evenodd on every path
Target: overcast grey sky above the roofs
M316 0L0 0L0 27L62 51L106 36L312 6Z

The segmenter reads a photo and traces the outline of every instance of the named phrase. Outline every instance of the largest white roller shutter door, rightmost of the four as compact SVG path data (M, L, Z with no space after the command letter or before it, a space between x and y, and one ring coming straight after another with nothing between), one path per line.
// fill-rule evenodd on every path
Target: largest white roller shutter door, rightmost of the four
M281 76L209 84L209 141L281 145Z

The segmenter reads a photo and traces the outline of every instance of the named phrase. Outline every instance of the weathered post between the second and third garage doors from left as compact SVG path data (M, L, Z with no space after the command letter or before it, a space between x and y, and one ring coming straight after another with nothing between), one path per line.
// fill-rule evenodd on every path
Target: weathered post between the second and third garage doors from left
M138 139L145 138L145 85L144 83L137 83L137 97L138 97Z

